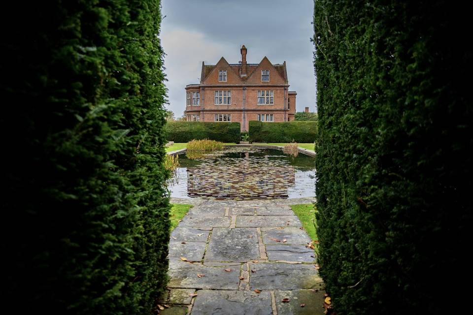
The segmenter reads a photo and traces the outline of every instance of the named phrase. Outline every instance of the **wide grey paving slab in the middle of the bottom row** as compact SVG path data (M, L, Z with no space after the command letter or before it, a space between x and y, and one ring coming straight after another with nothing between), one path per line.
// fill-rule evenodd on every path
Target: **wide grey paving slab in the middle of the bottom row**
M199 290L192 315L272 315L269 291Z

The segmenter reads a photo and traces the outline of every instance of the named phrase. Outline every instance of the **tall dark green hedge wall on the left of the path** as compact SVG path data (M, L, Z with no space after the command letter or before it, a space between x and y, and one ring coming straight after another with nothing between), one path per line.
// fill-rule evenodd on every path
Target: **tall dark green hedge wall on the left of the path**
M160 1L8 5L23 22L2 25L5 307L150 314L169 241Z

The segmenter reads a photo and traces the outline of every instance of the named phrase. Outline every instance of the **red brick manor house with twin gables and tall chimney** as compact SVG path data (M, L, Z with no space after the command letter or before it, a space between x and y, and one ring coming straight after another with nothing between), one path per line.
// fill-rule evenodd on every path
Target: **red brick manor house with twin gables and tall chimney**
M246 47L241 61L217 64L202 62L200 84L186 86L187 121L239 122L241 131L248 121L289 122L296 113L296 95L289 91L286 62L272 64L267 57L260 63L246 63Z

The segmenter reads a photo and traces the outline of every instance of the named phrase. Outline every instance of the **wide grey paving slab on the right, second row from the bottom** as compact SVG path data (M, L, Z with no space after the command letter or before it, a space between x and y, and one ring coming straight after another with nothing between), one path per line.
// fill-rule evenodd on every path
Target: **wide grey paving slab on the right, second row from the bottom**
M251 290L320 289L322 278L312 264L251 263Z

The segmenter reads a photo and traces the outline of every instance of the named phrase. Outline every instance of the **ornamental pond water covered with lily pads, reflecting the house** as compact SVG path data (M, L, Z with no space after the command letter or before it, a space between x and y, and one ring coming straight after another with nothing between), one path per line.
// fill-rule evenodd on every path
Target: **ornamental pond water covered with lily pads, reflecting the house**
M192 158L192 159L191 159ZM200 157L179 155L171 197L251 200L313 197L314 158L280 150L227 147Z

